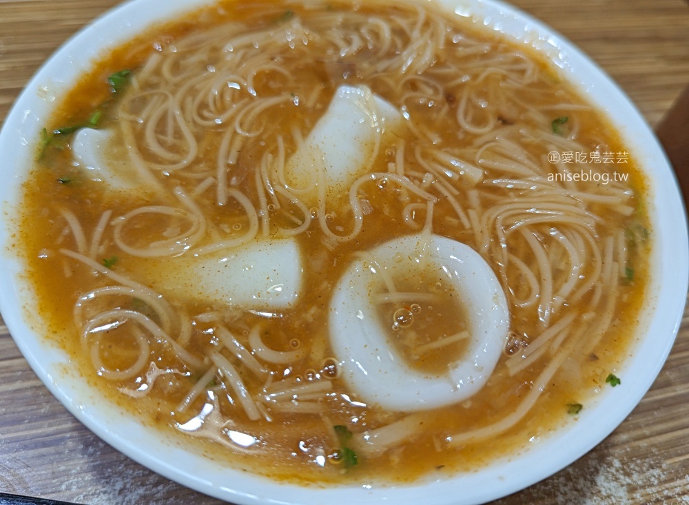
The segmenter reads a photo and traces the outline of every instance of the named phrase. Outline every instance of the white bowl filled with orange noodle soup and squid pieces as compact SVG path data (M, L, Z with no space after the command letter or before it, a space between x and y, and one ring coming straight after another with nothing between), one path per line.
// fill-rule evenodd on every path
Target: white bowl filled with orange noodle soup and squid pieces
M103 440L240 504L473 504L641 400L686 220L568 41L493 1L159 11L77 34L0 136L3 318Z

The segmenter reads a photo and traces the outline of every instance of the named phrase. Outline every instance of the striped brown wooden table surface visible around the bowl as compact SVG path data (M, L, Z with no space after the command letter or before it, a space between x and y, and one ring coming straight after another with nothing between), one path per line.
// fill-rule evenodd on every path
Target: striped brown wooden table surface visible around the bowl
M0 0L0 121L39 65L116 3ZM593 56L653 127L689 85L686 0L513 3ZM219 503L148 471L101 442L43 387L3 325L0 493L89 505ZM524 503L689 503L689 311L655 384L610 437L549 479L494 502Z

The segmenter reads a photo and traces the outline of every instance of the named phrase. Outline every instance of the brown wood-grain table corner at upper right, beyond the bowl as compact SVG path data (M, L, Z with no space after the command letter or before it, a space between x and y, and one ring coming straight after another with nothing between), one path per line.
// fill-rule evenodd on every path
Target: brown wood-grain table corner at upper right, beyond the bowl
M515 0L598 63L650 125L689 83L689 6L683 0Z

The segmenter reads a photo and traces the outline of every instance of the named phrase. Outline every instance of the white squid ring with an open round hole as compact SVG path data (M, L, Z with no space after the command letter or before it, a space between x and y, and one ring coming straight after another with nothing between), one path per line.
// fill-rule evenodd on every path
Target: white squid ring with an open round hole
M471 247L437 235L391 240L370 254L393 279L424 262L449 279L469 316L469 348L446 373L412 369L389 344L390 325L376 313L373 297L384 290L380 274L357 260L340 279L330 307L331 345L342 378L361 401L393 411L434 409L477 393L493 373L509 330L506 297L489 265Z

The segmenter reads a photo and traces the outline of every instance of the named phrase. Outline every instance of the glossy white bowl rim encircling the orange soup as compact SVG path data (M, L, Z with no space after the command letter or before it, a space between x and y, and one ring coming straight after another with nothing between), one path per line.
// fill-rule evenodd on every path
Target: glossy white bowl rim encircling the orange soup
M420 0L421 1L421 0ZM70 88L92 59L141 32L153 21L174 19L209 0L135 0L112 10L66 43L34 76L0 134L0 200L12 214L19 186L32 165L32 146L48 118L54 99ZM304 488L271 482L234 471L190 453L147 429L101 399L72 375L69 358L41 335L31 315L32 296L21 278L21 261L8 247L12 220L0 225L5 258L0 264L0 311L31 367L67 409L96 435L137 462L197 491L237 504L477 504L508 495L559 471L601 442L641 400L666 360L675 339L688 287L687 226L677 183L655 136L613 81L562 36L526 14L497 1L443 0L458 16L472 19L542 51L566 78L604 110L630 154L644 167L650 182L649 209L655 243L650 295L642 331L633 355L624 363L624 389L615 390L615 408L606 402L610 388L595 404L587 403L578 422L569 423L528 451L506 457L475 473L420 482L412 486Z

